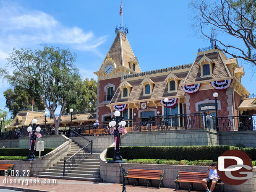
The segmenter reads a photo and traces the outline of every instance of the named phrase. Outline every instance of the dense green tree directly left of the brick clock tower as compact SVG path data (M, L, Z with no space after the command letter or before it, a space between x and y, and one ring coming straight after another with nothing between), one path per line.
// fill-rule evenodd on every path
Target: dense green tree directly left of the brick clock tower
M94 78L86 78L76 82L76 94L70 98L65 114L69 109L74 109L74 113L88 113L96 110L97 101L97 81Z

